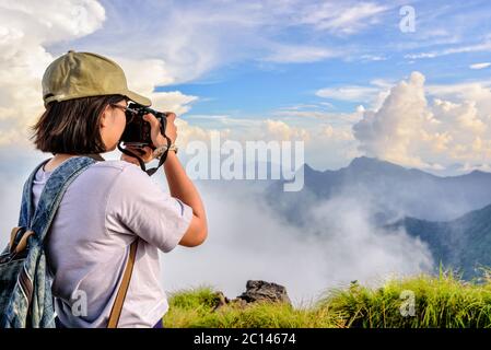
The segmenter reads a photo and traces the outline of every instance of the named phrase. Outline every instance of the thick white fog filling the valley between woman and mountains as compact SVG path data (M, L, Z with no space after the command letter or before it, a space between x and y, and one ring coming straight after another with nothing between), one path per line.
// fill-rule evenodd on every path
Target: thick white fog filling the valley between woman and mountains
M202 182L199 188L209 238L162 255L167 291L208 284L235 298L247 280L262 279L287 287L292 302L302 305L352 280L377 285L432 269L425 244L402 231L375 229L370 202L342 196L319 202L308 224L297 228L266 205L258 184Z

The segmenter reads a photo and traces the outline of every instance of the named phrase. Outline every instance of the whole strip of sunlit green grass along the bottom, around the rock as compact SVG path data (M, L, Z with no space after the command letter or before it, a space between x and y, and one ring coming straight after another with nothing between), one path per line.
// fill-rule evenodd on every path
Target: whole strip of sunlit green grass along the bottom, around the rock
M413 301L413 303L411 303ZM173 293L164 317L169 328L488 328L491 280L466 282L452 273L390 280L381 288L352 282L306 307L280 303L229 304L214 311L215 290ZM412 306L412 307L411 307Z

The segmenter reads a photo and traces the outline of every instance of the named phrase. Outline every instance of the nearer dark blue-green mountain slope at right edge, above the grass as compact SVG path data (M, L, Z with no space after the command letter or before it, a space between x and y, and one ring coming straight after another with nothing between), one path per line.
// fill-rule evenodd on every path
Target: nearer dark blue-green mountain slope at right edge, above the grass
M436 262L461 269L466 279L477 276L479 266L491 267L491 206L447 222L405 218L388 228L426 242Z

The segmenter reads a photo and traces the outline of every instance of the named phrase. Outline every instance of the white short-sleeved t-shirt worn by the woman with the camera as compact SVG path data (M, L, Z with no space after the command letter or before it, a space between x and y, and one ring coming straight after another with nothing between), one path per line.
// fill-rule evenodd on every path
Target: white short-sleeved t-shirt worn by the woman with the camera
M35 176L36 207L50 174L42 167ZM47 238L55 311L61 323L107 326L129 246L138 236L118 327L155 325L168 308L157 249L172 250L191 218L190 207L163 191L135 164L104 161L85 170L65 192Z

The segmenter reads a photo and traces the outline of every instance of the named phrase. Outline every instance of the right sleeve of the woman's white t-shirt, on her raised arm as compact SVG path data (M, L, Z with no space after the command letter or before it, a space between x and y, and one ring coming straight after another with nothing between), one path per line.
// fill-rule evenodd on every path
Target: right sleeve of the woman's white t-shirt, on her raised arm
M136 234L164 253L177 246L191 219L189 206L171 197L135 164L122 168L109 191L108 232Z

